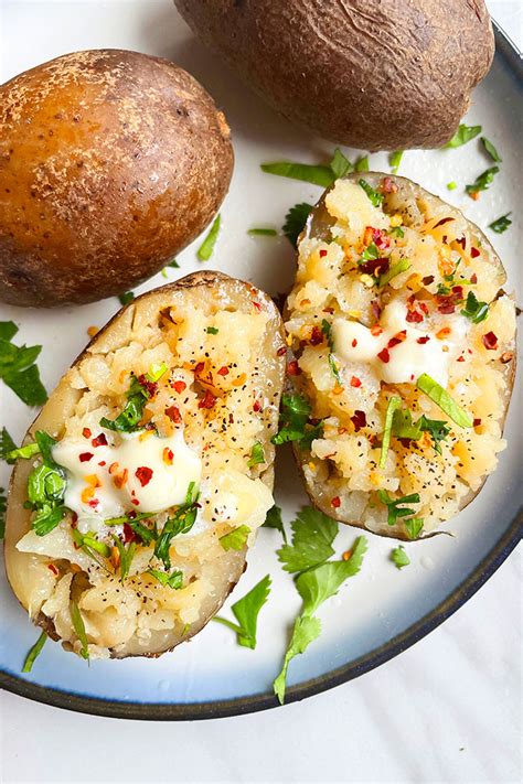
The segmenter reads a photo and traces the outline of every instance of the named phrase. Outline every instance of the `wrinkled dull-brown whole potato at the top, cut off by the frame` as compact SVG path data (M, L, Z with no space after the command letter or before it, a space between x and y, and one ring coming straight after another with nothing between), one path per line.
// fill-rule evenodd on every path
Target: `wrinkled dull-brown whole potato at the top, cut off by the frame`
M439 147L488 73L483 0L174 0L275 109L365 150Z

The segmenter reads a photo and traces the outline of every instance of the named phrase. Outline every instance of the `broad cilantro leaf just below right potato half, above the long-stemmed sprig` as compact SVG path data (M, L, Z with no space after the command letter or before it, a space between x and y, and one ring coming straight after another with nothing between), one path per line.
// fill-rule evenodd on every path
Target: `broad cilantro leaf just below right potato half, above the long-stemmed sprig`
M305 506L291 523L292 544L277 550L285 571L298 572L323 563L334 550L338 523L322 512Z

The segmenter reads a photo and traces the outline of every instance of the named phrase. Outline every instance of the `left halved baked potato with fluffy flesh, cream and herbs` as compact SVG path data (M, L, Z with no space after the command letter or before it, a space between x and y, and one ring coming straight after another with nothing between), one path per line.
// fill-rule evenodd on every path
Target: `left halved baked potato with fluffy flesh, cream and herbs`
M96 335L17 452L6 568L32 621L93 658L156 656L207 623L274 503L285 354L273 301L218 272Z

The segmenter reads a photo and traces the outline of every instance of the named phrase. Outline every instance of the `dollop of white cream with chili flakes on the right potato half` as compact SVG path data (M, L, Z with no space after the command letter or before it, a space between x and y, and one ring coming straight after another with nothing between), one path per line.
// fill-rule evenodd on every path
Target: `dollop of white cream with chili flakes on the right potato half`
M434 330L423 323L409 323L407 313L405 302L392 300L383 309L381 330L373 331L357 321L335 319L332 324L335 355L348 363L372 366L377 378L386 384L415 384L427 373L447 387L449 362L462 348L467 319L448 315Z

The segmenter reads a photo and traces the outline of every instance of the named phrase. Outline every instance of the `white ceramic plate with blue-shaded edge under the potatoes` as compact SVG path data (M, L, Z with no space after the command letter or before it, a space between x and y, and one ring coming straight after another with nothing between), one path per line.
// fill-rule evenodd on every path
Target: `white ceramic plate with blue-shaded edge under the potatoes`
M222 207L222 233L212 267L253 281L269 293L286 291L293 275L293 253L285 237L247 235L252 226L279 228L287 210L300 201L314 202L313 185L264 174L264 161L291 158L328 160L332 146L297 130L268 109L216 58L198 44L169 0L77 0L76 2L6 2L2 80L65 52L121 47L169 57L193 73L225 110L233 129L236 165L231 192ZM462 186L489 164L476 141L459 150L407 152L399 173L463 210L480 227L512 212L513 224L491 239L509 271L509 290L521 267L523 226L521 193L521 62L498 34L493 68L473 96L466 118L481 123L502 154L501 173L480 201ZM346 151L354 157L353 151ZM520 164L520 165L519 165ZM371 168L388 171L385 153L371 158ZM450 193L446 183L455 180ZM195 246L180 255L180 273L200 269ZM209 265L211 266L211 265ZM178 270L170 270L174 280ZM137 291L161 286L156 276ZM39 365L51 390L87 341L89 325L102 325L118 309L115 299L81 308L52 311L1 308L1 319L20 326L20 341L42 344ZM0 387L0 427L20 440L34 411L9 389ZM406 545L412 565L398 571L388 560L389 540L369 535L370 548L360 576L320 610L322 635L289 669L287 701L355 677L408 647L460 606L500 566L519 539L517 506L522 483L516 436L521 430L516 399L506 423L509 448L480 496L448 526L456 537L436 537ZM0 468L0 484L8 472ZM290 451L280 450L276 500L286 520L307 503ZM356 536L341 526L342 552ZM226 716L273 707L271 681L279 672L289 625L299 598L282 572L275 550L279 535L262 530L249 555L249 568L233 600L264 574L273 577L273 593L259 620L255 652L236 646L234 635L211 623L193 642L159 659L95 662L66 654L47 643L33 672L21 675L36 631L26 620L6 579L0 580L0 685L18 694L81 711L126 718L189 719ZM222 614L227 614L227 605Z

